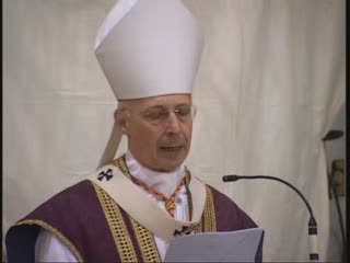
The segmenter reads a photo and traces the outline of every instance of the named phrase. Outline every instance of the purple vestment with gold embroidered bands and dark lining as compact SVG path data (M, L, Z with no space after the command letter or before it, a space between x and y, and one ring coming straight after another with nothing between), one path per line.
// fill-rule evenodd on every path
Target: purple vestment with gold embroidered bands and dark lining
M257 227L229 197L211 186L206 188L206 207L198 232ZM35 261L40 227L52 232L84 262L160 261L152 233L89 180L55 195L9 229L9 263ZM262 239L264 236L256 262L262 260Z

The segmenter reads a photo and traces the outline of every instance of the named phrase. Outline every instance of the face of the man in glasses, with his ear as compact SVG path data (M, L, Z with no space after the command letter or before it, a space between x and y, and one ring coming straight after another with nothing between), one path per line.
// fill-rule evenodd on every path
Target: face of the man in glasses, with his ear
M190 95L153 96L127 101L124 105L125 110L117 110L115 118L128 136L132 156L155 171L171 172L180 165L191 140Z

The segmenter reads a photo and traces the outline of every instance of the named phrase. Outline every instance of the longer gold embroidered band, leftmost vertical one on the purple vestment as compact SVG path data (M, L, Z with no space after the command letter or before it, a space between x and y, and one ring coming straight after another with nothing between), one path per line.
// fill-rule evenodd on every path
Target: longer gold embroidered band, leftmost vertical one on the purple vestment
M108 194L93 183L100 203L108 221L116 248L121 262L137 262L138 258L132 245L127 226L122 219L119 206L108 196Z

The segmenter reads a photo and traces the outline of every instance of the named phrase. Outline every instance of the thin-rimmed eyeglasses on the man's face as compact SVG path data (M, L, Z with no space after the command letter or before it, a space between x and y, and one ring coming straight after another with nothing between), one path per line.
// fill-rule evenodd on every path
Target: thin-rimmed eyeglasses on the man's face
M184 123L190 122L195 118L197 108L190 104L182 104L175 108L168 108L165 106L154 106L147 108L142 113L142 117L151 124L160 125L168 119L171 111L177 116L177 118Z

